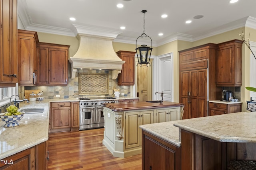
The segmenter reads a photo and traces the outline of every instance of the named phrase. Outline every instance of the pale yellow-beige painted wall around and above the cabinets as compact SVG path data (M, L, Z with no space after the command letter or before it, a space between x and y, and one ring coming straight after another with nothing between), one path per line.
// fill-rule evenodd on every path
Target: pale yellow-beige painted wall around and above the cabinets
M196 47L198 45L203 45L206 43L222 43L225 41L229 41L232 39L240 39L239 34L243 32L248 37L250 33L251 41L256 42L256 29L251 29L248 27L242 27L238 29L234 29L232 31L227 31L225 33L220 33L218 35L214 35L211 37L207 37L198 41L188 42L176 40L170 43L166 43L164 45L153 47L152 55L158 56L166 53L173 53L173 63L174 63L174 102L179 102L179 54L178 51L188 49L191 47ZM57 43L63 45L70 45L70 57L72 57L79 45L78 39L76 37L69 37L63 35L54 35L49 33L40 33L38 32L38 38L40 42L47 43ZM114 51L135 51L134 44L127 43L118 43L113 42ZM242 47L242 87L241 87L241 101L243 104L243 111L246 110L246 100L250 100L250 93L248 90L245 90L246 86L250 84L250 60L248 59L250 56L250 50L243 44ZM246 57L245 57L246 56ZM255 73L252 73L255 74Z

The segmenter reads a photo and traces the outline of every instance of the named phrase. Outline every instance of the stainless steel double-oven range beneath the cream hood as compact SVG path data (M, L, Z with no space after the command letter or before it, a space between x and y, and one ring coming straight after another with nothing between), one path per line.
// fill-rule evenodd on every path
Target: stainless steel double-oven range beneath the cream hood
M78 98L80 100L80 127L79 130L104 127L104 103L118 103L118 99L104 98Z

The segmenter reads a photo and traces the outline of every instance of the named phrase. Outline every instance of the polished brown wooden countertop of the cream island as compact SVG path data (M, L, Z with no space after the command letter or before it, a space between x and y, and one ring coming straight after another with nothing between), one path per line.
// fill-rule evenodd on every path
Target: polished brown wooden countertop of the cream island
M164 107L183 106L183 104L176 102L162 102L162 103L150 103L150 102L120 102L120 103L105 103L104 107L108 107L113 111L126 111L126 110L138 110L138 109L155 109Z

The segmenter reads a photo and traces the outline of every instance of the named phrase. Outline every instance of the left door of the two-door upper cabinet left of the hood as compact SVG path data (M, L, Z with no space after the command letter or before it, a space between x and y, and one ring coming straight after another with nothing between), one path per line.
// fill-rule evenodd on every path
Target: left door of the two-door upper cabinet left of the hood
M37 68L38 68L38 85L46 85L49 82L49 58L48 58L48 48L38 47L37 49Z

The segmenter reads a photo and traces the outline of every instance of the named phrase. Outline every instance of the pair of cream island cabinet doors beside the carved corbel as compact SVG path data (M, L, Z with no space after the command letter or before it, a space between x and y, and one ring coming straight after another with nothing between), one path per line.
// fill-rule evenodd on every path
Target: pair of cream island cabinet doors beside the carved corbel
M125 148L141 146L140 125L154 123L154 110L134 111L125 113Z

